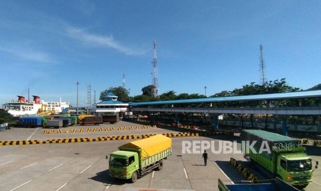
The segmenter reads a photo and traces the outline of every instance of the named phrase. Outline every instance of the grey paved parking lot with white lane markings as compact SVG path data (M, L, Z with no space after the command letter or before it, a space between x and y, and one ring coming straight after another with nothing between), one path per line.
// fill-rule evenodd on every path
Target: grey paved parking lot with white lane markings
M76 132L45 134L46 129L12 128L0 132L0 140L48 140L57 138L102 137L177 133L182 129L118 127L137 126L119 122L111 131L83 131L79 129L110 127L111 125L75 126ZM142 125L139 125L141 127ZM97 130L96 129L96 130ZM184 130L184 129L183 129ZM231 138L232 139L232 138ZM114 180L108 176L106 155L130 140L109 140L87 143L0 146L0 190L217 190L217 179L226 184L242 183L244 178L229 164L233 157L244 161L242 154L208 153L204 166L202 154L183 154L182 141L228 140L227 136L195 136L172 138L173 154L164 161L161 171L154 171L135 183ZM309 147L311 157L321 161L320 148ZM260 174L260 172L258 172ZM264 177L264 176L260 176ZM305 190L321 188L321 172L315 170L313 183Z

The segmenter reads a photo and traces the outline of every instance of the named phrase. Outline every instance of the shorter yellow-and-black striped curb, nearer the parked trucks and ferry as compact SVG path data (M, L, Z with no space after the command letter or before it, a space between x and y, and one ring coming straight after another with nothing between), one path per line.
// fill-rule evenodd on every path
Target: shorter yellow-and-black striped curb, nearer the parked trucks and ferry
M130 127L118 127L118 128L114 128L114 127L99 127L99 128L87 128L87 129L64 129L64 130L61 130L61 129L57 129L57 131L55 131L55 129L50 129L50 130L45 130L43 131L44 134L61 134L61 133L82 133L82 132L95 132L95 131L115 131L115 129L117 130L133 130L133 129L156 129L157 126L154 125L154 126L150 126L150 125L142 125L142 127L139 127L139 126L130 126Z

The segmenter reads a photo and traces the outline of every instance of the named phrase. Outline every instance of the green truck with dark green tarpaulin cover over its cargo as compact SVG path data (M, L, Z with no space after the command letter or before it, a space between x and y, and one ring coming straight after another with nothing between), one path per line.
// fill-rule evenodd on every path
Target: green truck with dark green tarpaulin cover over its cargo
M241 132L244 158L264 167L273 177L305 188L312 181L312 162L301 141L263 130Z

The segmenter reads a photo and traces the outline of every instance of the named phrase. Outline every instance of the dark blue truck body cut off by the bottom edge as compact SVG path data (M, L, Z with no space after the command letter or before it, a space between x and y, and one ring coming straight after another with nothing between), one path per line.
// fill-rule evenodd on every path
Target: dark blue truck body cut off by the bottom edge
M274 181L266 183L240 183L240 184L225 184L221 179L218 179L218 189L220 191L286 191L298 190L297 188L282 181L278 177ZM298 190L299 191L299 190Z

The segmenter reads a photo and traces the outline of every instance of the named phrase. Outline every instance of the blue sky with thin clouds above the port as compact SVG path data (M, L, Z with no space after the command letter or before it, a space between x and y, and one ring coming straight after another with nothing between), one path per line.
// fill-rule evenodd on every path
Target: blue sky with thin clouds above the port
M321 1L1 1L0 102L17 95L86 105L122 86L211 96L267 80L320 82Z

